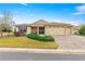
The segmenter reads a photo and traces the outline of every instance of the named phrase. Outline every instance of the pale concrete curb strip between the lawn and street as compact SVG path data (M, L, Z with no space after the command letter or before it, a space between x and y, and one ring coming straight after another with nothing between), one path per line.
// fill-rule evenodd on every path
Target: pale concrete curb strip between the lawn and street
M26 48L0 48L0 52L25 52L25 53L55 53L55 54L85 54L83 49L26 49Z

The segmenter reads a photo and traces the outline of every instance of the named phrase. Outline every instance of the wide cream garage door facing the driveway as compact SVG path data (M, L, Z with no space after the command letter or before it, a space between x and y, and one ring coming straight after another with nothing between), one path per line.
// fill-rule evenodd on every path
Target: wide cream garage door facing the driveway
M46 28L47 35L70 35L71 29L65 27L47 27Z

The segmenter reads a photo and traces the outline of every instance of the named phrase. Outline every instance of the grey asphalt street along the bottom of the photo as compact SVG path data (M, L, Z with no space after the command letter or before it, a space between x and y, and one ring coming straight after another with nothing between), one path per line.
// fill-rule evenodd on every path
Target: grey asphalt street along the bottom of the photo
M85 61L85 54L0 52L0 61Z

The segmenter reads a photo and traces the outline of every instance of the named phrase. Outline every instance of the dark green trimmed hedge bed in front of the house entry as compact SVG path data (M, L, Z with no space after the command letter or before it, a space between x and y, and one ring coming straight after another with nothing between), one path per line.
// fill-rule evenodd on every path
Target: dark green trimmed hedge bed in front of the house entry
M39 41L54 41L54 38L52 36L40 36L34 34L28 34L27 37Z

